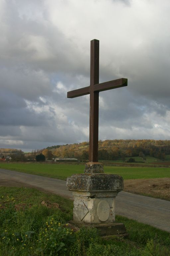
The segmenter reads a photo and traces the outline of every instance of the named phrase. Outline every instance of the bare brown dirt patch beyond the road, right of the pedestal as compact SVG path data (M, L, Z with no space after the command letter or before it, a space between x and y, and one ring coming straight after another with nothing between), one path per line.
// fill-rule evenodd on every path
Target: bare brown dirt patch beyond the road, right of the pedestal
M170 178L124 180L124 191L170 201Z

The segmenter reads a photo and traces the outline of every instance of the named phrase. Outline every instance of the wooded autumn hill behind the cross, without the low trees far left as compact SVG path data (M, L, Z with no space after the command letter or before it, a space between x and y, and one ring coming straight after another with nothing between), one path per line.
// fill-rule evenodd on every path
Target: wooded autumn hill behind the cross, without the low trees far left
M81 160L88 159L89 142L57 145L47 147L56 157L75 157ZM170 140L100 140L99 159L100 160L125 160L126 157L140 157L145 160L145 156L156 157L165 160L170 154Z

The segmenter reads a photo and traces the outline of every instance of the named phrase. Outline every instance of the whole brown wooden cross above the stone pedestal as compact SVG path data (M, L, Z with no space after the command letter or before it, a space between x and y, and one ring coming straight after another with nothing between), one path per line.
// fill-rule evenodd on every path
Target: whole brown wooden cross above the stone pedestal
M99 92L128 85L128 79L120 78L99 84L99 40L91 41L90 86L67 92L67 98L90 94L89 162L98 162Z

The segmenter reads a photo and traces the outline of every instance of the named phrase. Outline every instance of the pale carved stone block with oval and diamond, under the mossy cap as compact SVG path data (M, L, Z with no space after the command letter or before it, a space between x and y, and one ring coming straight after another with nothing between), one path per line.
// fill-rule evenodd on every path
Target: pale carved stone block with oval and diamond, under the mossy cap
M111 223L115 221L116 195L117 192L73 191L73 220L86 224Z

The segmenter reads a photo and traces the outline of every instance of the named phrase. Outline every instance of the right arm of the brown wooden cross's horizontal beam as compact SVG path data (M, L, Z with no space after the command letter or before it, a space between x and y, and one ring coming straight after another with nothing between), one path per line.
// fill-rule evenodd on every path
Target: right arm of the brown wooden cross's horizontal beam
M116 79L116 80L112 80L112 81L108 81L100 84L95 84L94 92L102 92L102 91L111 90L111 89L115 89L115 88L119 88L127 85L128 85L128 79L120 78L120 79Z

